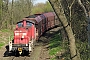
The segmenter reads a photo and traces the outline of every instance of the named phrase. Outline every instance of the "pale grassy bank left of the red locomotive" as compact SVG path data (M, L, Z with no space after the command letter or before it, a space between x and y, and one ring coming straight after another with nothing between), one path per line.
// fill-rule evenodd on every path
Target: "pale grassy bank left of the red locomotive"
M2 48L2 46L13 38L13 31L10 29L1 29L0 32L0 48Z

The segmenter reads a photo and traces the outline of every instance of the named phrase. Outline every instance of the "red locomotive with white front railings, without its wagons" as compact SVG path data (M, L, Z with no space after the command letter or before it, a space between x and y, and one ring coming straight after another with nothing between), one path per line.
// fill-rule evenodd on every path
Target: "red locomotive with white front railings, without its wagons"
M9 42L9 51L32 51L33 42L35 40L34 22L23 20L17 23L14 30L14 41Z

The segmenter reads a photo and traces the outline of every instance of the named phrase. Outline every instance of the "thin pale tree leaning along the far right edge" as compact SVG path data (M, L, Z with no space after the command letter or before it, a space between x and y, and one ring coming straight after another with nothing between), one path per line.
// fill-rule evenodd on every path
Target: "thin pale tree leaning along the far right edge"
M88 21L87 26L87 35L88 35L88 60L90 59L90 2L86 0L86 6L82 3L81 0L77 0L78 4L83 8L84 14Z

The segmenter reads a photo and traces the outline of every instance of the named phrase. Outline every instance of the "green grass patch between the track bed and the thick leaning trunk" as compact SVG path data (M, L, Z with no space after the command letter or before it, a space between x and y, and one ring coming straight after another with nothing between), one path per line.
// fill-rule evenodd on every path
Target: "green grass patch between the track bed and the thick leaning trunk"
M62 38L61 35L55 34L49 43L49 54L50 56L54 56L51 58L51 60L55 60L55 55L57 52L60 52L62 50Z

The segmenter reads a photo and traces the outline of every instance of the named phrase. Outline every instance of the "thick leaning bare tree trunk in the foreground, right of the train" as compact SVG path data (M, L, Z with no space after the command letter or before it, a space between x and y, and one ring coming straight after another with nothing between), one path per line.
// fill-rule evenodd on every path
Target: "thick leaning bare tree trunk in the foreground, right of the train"
M80 60L80 58L77 57L76 52L76 45L75 45L75 37L73 35L73 31L71 26L69 26L67 18L64 14L64 10L62 8L61 2L58 0L49 0L51 6L53 7L55 13L58 15L59 20L63 24L63 27L65 28L65 31L67 33L69 43L70 43L70 54L72 60Z

